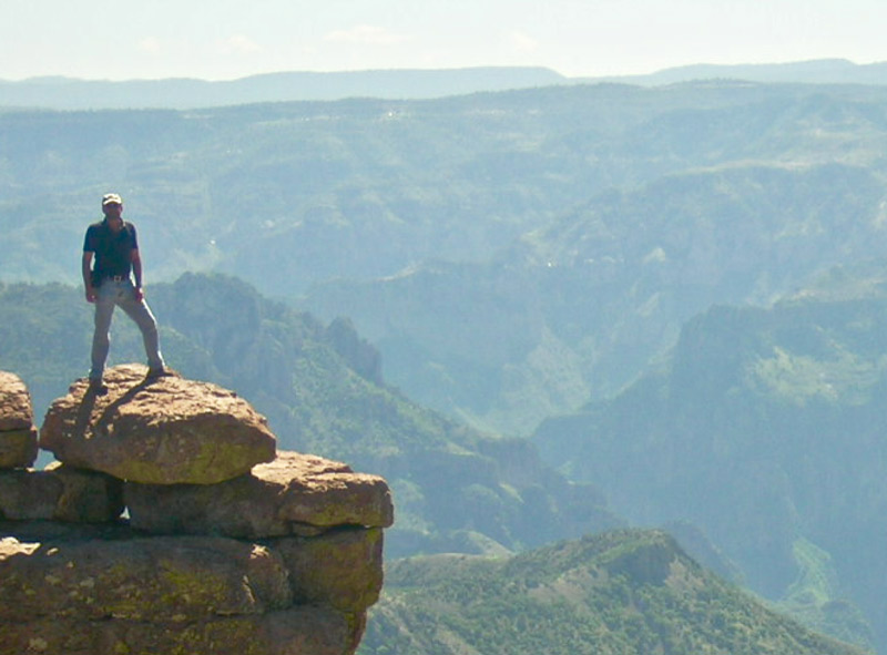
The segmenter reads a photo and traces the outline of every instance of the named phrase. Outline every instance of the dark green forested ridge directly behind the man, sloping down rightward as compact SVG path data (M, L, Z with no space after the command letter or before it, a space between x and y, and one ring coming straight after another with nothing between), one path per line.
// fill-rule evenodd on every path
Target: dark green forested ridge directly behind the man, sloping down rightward
M485 436L421 408L381 379L378 354L346 321L313 317L223 276L147 289L170 365L237 391L266 415L279 448L383 474L396 497L389 556L502 553L621 524L590 484L544 467L532 444ZM142 361L119 313L112 364ZM0 370L19 375L37 420L83 377L91 307L79 288L0 284Z

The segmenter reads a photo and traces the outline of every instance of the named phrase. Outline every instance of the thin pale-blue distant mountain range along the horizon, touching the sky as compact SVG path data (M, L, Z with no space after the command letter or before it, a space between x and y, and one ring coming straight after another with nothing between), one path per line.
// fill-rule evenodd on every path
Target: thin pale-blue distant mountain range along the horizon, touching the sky
M262 102L347 98L421 100L538 86L622 83L642 86L699 80L747 80L805 84L887 84L887 62L855 64L826 59L774 64L694 64L648 75L567 78L546 68L480 66L449 70L279 72L237 80L0 80L0 108L194 109Z

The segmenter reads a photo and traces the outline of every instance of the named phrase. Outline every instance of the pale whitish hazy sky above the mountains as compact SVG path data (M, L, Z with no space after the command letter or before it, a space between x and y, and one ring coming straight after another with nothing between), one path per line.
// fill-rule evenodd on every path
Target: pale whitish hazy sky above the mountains
M0 79L887 61L884 0L2 0Z

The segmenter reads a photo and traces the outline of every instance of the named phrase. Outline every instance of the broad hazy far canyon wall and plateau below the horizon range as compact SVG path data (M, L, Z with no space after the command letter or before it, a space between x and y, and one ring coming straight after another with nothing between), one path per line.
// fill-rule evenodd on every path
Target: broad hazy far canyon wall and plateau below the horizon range
M0 278L77 283L114 188L153 279L305 295L351 316L410 397L529 434L618 391L711 303L877 256L886 137L883 86L723 81L7 111Z

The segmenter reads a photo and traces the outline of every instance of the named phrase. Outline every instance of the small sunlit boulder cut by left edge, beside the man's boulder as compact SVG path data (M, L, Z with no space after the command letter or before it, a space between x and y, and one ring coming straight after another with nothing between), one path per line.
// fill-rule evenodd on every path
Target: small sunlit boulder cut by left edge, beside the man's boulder
M0 469L30 467L37 451L28 388L17 375L0 371Z

